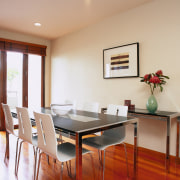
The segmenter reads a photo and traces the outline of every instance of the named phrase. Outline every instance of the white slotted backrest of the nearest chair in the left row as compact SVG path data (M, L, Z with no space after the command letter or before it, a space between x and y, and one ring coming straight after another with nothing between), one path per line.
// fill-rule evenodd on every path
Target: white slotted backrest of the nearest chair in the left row
M34 112L38 133L38 148L57 158L57 140L52 117L49 114Z

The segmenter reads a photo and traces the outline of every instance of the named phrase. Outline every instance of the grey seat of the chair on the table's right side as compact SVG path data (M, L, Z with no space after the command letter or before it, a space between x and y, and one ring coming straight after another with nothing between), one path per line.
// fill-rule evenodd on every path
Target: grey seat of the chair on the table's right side
M96 136L96 137L90 137L83 139L83 144L86 144L88 146L97 148L99 150L104 150L108 146L120 144L124 141L124 138L111 138L105 135L102 136Z

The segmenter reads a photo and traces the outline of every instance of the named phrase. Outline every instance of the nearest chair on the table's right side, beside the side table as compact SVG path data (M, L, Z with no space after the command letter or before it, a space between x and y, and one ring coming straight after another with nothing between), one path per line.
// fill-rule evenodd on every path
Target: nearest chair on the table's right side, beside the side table
M110 114L110 115L118 115L118 116L127 116L127 112L128 112L127 106L118 106L118 105L110 104L108 105L108 108L107 108L107 115ZM101 152L104 151L103 179L104 179L104 172L105 172L106 148L113 145L117 145L117 144L124 145L125 155L126 155L127 175L129 175L127 151L126 151L126 145L124 143L124 140L125 140L125 126L105 130L101 136L83 139L83 144L86 144L88 146L98 149L100 162L102 162Z

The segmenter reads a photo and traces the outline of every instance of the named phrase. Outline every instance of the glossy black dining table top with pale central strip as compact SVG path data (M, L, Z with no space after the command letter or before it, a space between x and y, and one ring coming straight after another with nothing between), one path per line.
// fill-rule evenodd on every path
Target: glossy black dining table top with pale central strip
M40 108L34 111L52 115L50 108ZM11 110L11 112L13 116L16 116L15 110ZM29 114L31 120L34 120L31 110L29 110ZM135 117L113 116L79 110L70 110L67 114L62 116L52 115L52 119L56 129L72 134L81 133L82 135L136 123L138 121Z

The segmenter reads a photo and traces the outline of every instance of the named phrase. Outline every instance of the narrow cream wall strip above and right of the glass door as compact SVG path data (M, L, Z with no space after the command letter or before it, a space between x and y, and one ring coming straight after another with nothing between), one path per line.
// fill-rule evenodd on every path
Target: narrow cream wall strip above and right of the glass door
M50 61L50 49L51 42L50 40L38 38L36 36L29 36L20 33L14 33L7 30L0 29L0 38L11 39L16 41L34 43L47 46L46 50L46 61L45 61L45 105L49 106L50 104L50 80L51 80L51 61Z

